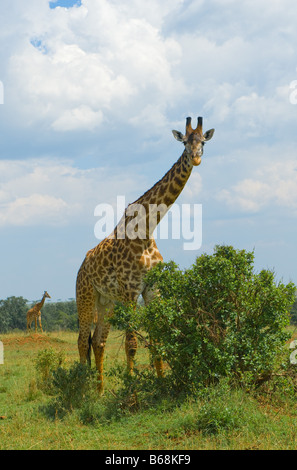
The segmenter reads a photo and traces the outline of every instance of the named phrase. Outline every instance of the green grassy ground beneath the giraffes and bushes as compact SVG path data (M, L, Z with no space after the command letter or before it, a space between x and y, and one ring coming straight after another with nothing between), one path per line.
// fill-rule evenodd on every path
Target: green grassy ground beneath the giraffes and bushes
M294 332L295 335L295 332ZM296 336L296 335L295 335ZM0 336L4 364L0 365L1 450L191 450L296 449L297 405L273 389L256 396L222 383L195 400L175 403L168 398L150 407L116 415L109 410L115 378L106 374L104 397L94 403L95 420L74 410L63 418L50 416L53 397L38 386L36 359L40 351L63 351L68 368L78 360L77 334L68 332ZM145 369L147 350L139 347L139 368ZM106 372L125 367L120 333L111 332ZM297 367L297 366L296 366ZM88 412L90 416L90 410Z

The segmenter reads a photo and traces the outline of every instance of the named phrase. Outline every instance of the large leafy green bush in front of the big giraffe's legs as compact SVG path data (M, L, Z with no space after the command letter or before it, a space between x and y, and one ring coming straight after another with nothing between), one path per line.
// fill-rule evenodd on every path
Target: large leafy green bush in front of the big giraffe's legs
M252 252L217 246L185 271L158 264L146 283L159 295L144 308L117 307L114 321L145 331L179 390L226 376L260 383L280 366L295 286L255 274L253 262Z

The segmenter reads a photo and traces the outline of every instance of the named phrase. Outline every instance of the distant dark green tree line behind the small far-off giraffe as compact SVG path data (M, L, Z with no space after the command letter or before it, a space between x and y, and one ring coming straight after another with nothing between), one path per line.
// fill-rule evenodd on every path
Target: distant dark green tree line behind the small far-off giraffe
M0 300L0 333L12 330L25 331L27 329L27 311L36 302L28 302L23 297L8 297L5 300ZM46 303L41 310L41 321L45 331L76 331L78 321L75 300ZM34 323L32 328L34 331Z

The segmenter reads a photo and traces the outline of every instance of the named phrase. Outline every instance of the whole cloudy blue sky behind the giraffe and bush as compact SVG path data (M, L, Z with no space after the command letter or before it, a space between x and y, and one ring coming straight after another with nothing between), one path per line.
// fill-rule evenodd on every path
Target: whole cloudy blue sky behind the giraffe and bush
M215 128L179 207L297 284L293 0L11 0L0 30L0 299L75 297L98 205L133 202L175 163L172 129ZM192 210L192 209L191 209Z

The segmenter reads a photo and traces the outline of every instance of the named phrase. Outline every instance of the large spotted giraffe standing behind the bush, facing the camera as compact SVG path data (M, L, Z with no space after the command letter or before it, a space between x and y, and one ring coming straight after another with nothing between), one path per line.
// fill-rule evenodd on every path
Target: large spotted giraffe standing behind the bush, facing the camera
M80 361L82 364L86 363L86 360L90 362L92 346L100 394L104 389L104 348L110 329L109 319L113 315L115 303L117 301L132 302L136 305L138 297L142 295L147 304L155 295L152 289L144 283L148 270L163 261L154 240L153 231L183 190L193 166L200 165L204 144L212 138L214 129L203 134L202 117L198 117L196 129L192 128L191 118L188 117L186 134L183 135L176 130L172 133L185 146L181 157L161 180L134 203L128 205L113 232L87 252L77 274L76 302L79 319ZM150 213L152 208L154 217ZM140 230L136 234L140 225L142 225L141 236ZM91 327L95 314L97 314L97 323L92 335ZM136 350L135 333L126 332L127 369L131 374ZM155 367L157 375L162 377L161 359L155 358Z

